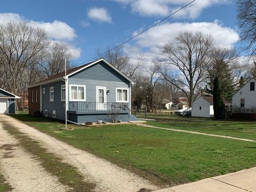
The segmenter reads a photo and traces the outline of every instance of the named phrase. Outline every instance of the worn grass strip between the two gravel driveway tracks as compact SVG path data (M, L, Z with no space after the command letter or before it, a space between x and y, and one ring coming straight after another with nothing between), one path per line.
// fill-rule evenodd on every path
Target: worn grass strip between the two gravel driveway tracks
M72 188L71 191L93 190L94 185L85 182L83 175L76 167L63 163L60 157L47 152L38 141L27 137L26 134L20 132L16 127L3 123L3 128L11 135L14 135L19 140L21 147L28 151L28 153L36 156L37 161L41 162L41 165L47 172L55 175L63 185Z

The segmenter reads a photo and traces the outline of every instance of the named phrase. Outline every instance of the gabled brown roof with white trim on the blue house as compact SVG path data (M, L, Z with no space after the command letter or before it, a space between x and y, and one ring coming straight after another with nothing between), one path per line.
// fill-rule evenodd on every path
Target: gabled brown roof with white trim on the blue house
M87 67L95 65L96 63L98 63L100 61L103 61L106 65L108 65L109 67L114 69L118 74L120 74L125 79L127 79L129 82L134 84L134 82L130 78L126 77L121 71L119 71L117 68L115 68L113 65L111 65L109 62L107 62L103 58L98 59L96 61L92 61L92 62L86 63L86 64L84 64L82 66L79 66L79 67L67 70L67 77L69 77L71 75L74 75L74 74L78 73L79 71L86 69ZM56 82L56 81L60 81L63 77L65 77L65 71L63 71L62 73L59 73L57 75L53 75L53 76L51 76L49 78L46 78L46 79L44 79L42 81L39 81L39 82L35 83L34 85L29 86L29 88L30 87L34 87L34 86L39 86L39 85L45 85L45 84Z

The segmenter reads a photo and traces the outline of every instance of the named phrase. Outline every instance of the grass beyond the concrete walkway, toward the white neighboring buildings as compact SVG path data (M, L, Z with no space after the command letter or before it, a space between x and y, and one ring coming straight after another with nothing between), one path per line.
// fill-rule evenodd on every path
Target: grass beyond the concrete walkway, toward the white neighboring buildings
M144 115L145 113L137 113L140 118L145 118ZM256 140L256 122L234 119L216 121L213 118L188 118L170 113L159 113L156 116L149 113L148 118L156 119L147 121L148 125Z

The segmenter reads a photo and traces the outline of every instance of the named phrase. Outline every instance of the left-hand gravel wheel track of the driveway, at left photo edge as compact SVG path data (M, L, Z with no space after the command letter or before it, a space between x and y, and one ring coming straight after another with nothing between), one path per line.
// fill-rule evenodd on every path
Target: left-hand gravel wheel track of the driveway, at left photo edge
M0 123L0 172L12 191L67 191L68 187L61 185L58 178L47 173L33 156L21 149L19 142L2 126Z

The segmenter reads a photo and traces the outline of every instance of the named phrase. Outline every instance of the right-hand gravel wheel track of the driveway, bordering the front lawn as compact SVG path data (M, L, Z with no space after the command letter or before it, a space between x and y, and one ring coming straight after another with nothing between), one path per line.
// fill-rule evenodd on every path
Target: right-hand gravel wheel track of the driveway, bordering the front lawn
M48 151L61 157L61 159L63 159L63 162L69 163L77 167L77 169L84 175L84 178L86 178L90 182L95 183L95 191L135 192L151 191L158 189L157 186L153 185L149 181L139 177L138 175L135 175L130 171L122 169L121 167L118 167L117 165L112 164L104 159L87 153L86 151L70 146L65 142L52 138L49 135L46 135L34 129L33 127L23 124L22 122L10 116L0 115L0 122L7 122L9 124L12 124L13 126L17 127L20 132L25 133L31 139L37 140L42 143L42 145ZM3 130L1 129L1 131ZM3 146L3 143L0 142L0 145ZM25 156L27 156L27 154ZM8 161L8 159L6 159L5 161ZM0 166L2 162L3 161L0 162ZM8 165L8 163L6 163L6 165L7 167L11 166ZM6 173L4 172L4 174ZM31 176L30 179L33 179L33 177ZM14 186L12 175L7 175L7 180L10 181L11 185ZM54 181L54 179L52 179L52 181ZM57 182L54 181L54 183L58 185ZM60 189L61 188L65 190L65 186L61 186ZM31 190L28 189L27 191Z

